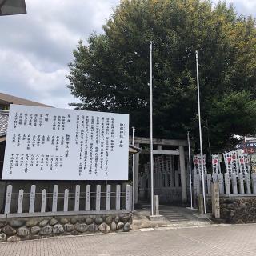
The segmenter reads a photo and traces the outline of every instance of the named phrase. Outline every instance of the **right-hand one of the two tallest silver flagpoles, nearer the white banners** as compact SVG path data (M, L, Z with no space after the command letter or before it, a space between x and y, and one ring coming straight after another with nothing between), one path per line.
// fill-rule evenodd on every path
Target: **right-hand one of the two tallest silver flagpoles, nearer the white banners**
M195 58L197 63L197 82L198 82L198 121L199 121L199 137L200 137L200 154L201 154L201 170L202 170L202 197L203 210L206 214L206 190L205 190L205 174L203 171L203 155L202 155L202 127L201 127L201 111L200 111L200 87L199 87L199 71L198 71L198 51L195 51Z

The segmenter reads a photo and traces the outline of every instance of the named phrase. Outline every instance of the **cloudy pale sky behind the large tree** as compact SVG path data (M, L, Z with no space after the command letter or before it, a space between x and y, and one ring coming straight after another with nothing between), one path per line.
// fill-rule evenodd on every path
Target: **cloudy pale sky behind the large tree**
M72 50L79 39L102 32L118 2L26 0L28 14L0 17L0 91L55 107L76 102L66 88ZM226 2L256 17L256 0Z

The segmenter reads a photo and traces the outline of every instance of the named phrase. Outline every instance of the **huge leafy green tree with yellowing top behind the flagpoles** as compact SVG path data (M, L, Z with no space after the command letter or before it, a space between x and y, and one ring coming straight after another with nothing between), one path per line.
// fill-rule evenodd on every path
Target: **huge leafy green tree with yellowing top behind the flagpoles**
M195 50L199 53L202 124L214 150L256 128L256 29L233 6L200 0L126 0L70 63L76 109L130 114L149 136L149 42L154 53L154 137L198 138ZM232 116L230 116L232 113ZM235 122L234 122L235 120ZM206 131L205 131L206 132Z

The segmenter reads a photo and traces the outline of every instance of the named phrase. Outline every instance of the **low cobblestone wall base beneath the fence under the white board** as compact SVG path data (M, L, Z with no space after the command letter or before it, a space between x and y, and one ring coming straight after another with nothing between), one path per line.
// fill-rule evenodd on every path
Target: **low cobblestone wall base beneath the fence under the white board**
M131 214L0 219L0 242L68 234L128 232L131 222Z

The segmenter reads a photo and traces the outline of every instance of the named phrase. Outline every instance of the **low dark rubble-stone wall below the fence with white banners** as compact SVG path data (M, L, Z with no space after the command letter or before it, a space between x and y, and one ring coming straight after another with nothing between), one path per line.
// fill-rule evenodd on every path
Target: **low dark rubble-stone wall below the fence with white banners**
M221 218L227 223L256 222L256 196L220 197Z

